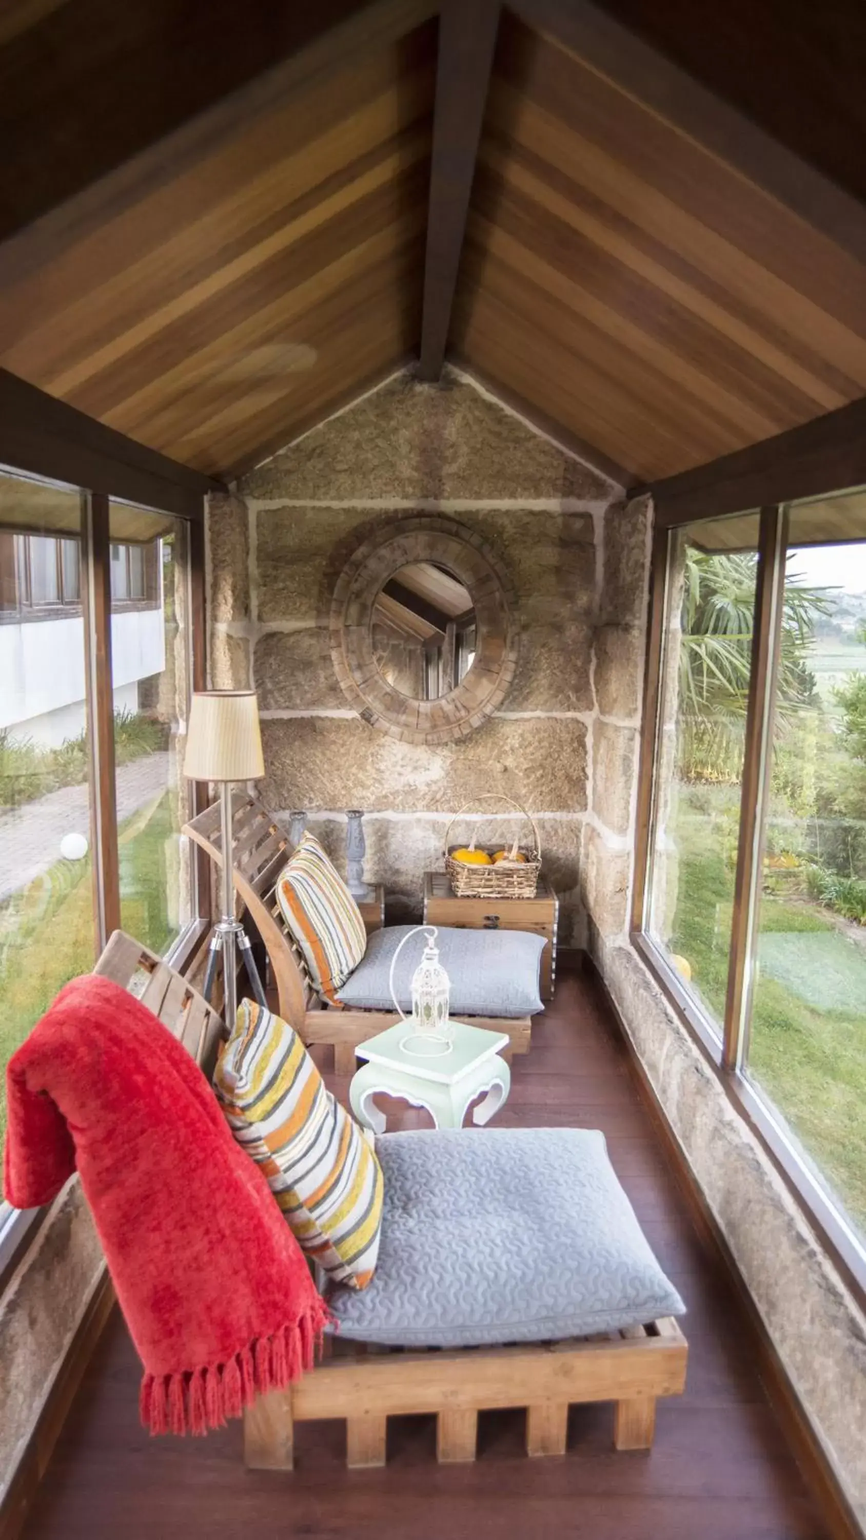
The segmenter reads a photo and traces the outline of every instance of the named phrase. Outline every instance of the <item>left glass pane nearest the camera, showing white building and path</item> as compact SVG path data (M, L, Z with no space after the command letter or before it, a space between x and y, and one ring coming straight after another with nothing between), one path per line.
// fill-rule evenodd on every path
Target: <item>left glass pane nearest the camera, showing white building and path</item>
M2 514L32 528L37 491L0 476ZM75 528L78 493L52 488L51 499ZM57 599L54 539L0 531L0 544L29 545L42 574L35 602ZM9 1055L62 984L94 966L89 841L83 621L25 608L0 625L0 1141Z

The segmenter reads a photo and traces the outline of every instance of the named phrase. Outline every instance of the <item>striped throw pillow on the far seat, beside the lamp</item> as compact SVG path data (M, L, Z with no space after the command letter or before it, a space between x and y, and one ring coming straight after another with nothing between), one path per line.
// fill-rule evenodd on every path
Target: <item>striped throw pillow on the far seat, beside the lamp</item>
M338 1006L337 990L366 952L361 912L315 835L305 833L277 881L277 902L303 952L312 987Z

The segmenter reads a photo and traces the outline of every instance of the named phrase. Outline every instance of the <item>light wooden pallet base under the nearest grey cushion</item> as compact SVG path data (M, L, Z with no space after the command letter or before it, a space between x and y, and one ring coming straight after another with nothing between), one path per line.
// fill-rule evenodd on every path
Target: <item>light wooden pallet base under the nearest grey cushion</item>
M311 1374L246 1409L245 1460L255 1471L291 1471L294 1424L340 1418L348 1466L381 1466L388 1418L414 1412L437 1414L437 1460L474 1460L478 1412L501 1406L526 1408L529 1455L565 1454L575 1401L614 1401L615 1448L649 1449L655 1400L683 1392L686 1358L671 1317L600 1337L448 1352L329 1338Z

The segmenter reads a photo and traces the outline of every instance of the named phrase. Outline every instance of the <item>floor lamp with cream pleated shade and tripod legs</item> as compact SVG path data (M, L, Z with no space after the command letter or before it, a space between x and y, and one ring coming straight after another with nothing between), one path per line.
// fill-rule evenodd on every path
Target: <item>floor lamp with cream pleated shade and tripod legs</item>
M234 916L232 785L237 781L260 781L265 775L258 701L254 690L202 690L192 696L183 773L188 781L215 781L220 787L223 913L211 936L205 998L211 998L217 962L221 956L223 1019L231 1032L237 1015L238 952L252 993L260 1006L266 1004L249 936Z

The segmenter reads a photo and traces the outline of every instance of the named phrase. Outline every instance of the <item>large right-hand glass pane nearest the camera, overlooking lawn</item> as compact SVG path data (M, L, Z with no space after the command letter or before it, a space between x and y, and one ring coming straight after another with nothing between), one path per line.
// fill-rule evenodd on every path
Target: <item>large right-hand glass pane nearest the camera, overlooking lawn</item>
M748 1075L866 1238L866 542L789 547Z

